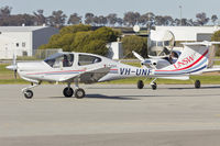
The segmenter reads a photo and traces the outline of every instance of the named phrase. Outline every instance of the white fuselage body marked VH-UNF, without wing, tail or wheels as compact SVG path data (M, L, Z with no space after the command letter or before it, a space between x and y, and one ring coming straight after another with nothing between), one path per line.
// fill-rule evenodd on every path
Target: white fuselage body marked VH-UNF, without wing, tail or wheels
M118 63L114 60L111 60L109 58L99 56L99 55L91 55L91 54L84 54L84 53L64 53L63 55L69 55L72 54L74 56L72 65L64 65L63 58L59 59L59 63L57 61L56 57L52 59L45 59L42 61L31 61L31 63L18 63L18 74L21 78L28 80L28 81L59 81L64 76L66 78L72 77L73 75L79 75L87 72L88 70L100 68L100 67L110 67L110 71L106 74L103 77L101 77L97 81L107 81L107 80L116 80L116 79L122 79L127 77L136 77L136 76L150 76L151 69L148 68L139 68L133 67L130 65L125 65L122 63ZM62 54L61 54L62 56ZM61 57L59 56L59 57ZM88 61L84 63L84 60L80 58L84 57L94 57L97 58L97 63ZM50 63L50 60L54 60L53 63ZM81 64L82 63L82 64Z

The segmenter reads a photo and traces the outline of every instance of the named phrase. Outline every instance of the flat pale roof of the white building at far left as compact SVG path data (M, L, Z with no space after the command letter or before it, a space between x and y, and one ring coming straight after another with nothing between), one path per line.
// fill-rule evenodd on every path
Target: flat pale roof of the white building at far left
M33 32L48 26L0 26L0 32Z

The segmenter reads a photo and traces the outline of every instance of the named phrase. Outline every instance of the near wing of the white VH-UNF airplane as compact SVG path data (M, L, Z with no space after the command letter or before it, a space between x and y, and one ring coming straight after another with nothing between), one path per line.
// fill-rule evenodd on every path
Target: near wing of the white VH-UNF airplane
M96 69L92 68L84 72L73 75L70 77L69 76L64 77L59 81L74 81L76 78L79 78L80 82L92 83L92 82L97 82L100 78L106 76L109 71L110 71L110 67L100 67Z

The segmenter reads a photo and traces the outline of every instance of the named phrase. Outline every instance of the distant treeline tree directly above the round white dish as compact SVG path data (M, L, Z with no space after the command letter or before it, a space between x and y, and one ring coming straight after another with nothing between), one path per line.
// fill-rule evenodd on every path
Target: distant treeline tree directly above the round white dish
M124 14L123 22L128 26L134 26L138 24L140 16L139 12L127 12Z

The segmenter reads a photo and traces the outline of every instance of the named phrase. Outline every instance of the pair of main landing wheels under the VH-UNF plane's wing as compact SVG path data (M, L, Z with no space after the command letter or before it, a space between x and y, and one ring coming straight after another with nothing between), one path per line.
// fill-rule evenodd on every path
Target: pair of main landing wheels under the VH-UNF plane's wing
M73 88L70 87L70 82L68 82L68 87L64 88L64 91L63 91L64 97L70 98L74 94L75 98L82 99L86 96L84 89L78 87L78 81L76 81L75 86L76 86L76 89L74 91Z

